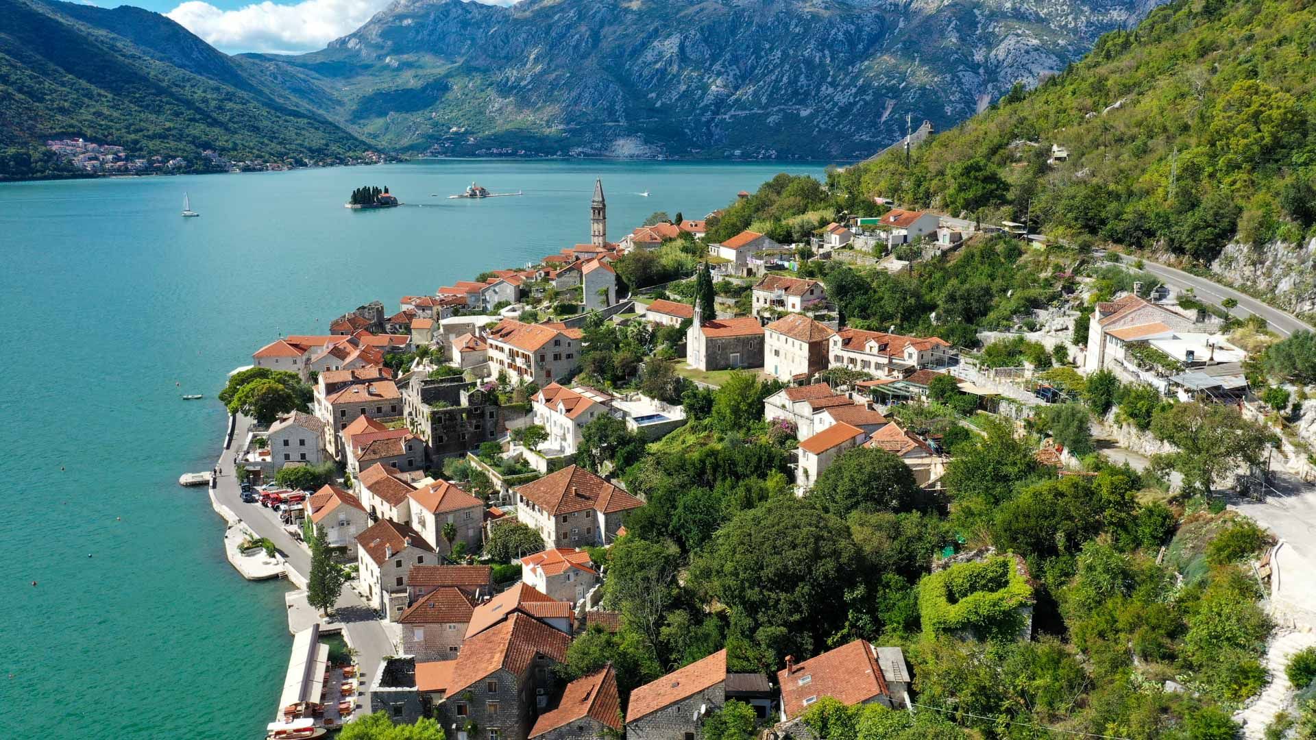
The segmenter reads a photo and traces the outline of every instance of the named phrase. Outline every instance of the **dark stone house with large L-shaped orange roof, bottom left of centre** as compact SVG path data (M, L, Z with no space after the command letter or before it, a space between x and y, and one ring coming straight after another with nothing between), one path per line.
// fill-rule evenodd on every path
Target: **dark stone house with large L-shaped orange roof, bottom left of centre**
M468 637L436 711L467 740L525 740L555 689L571 639L524 614Z

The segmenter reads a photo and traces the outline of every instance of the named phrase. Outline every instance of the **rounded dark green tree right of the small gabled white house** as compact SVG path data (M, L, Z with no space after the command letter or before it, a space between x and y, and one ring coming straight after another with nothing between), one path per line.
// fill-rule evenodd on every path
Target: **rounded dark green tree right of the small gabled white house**
M912 511L929 503L913 470L899 457L876 448L841 453L819 474L807 500L840 517L851 511Z

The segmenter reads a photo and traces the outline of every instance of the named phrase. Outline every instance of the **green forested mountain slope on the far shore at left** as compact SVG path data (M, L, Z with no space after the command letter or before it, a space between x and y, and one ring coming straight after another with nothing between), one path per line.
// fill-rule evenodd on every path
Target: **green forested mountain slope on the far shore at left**
M43 147L63 137L192 169L205 149L265 161L366 149L163 16L26 0L0 0L0 179L68 171Z

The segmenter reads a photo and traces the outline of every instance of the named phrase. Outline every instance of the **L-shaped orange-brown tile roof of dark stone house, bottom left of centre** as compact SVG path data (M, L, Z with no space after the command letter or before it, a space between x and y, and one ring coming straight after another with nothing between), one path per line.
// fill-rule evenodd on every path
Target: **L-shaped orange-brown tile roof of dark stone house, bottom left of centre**
M457 665L447 694L458 694L500 668L520 675L537 654L566 662L570 644L570 637L533 616L513 614L501 624L466 639L453 661Z

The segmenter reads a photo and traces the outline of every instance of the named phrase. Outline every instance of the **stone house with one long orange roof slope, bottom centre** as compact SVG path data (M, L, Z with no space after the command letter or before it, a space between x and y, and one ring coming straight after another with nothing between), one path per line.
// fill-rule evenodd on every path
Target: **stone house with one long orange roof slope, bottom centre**
M695 740L709 712L726 702L726 649L630 693L629 740Z

